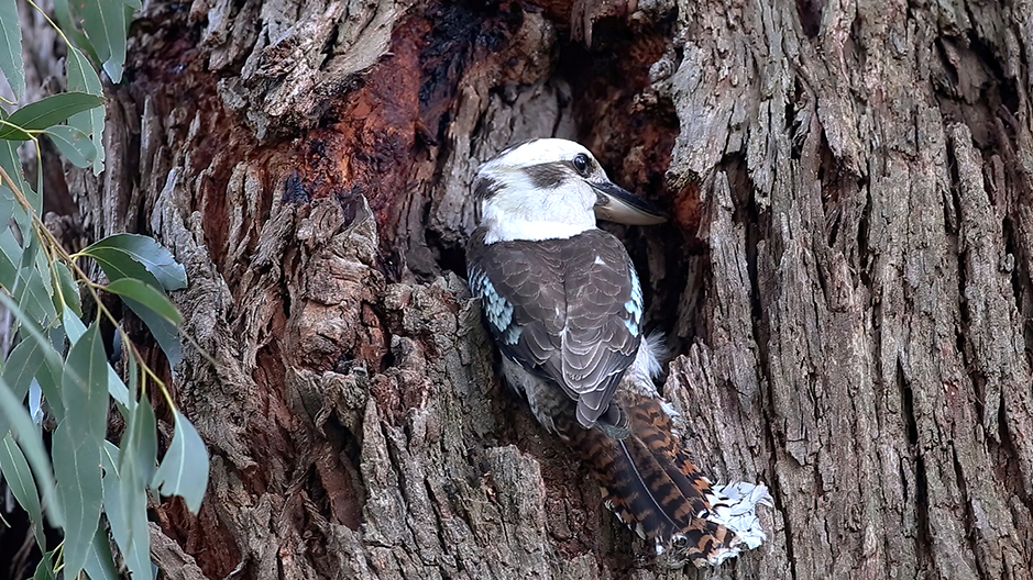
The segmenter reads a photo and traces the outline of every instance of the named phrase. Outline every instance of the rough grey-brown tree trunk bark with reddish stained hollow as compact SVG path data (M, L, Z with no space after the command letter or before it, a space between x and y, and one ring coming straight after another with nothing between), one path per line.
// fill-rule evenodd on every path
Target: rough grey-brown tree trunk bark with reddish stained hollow
M174 372L211 483L198 517L153 506L155 561L1030 578L1031 51L1029 0L147 3L108 170L64 177L88 238L187 266L219 362ZM494 375L468 189L549 135L673 216L614 230L671 335L662 391L697 462L774 497L717 572L658 568Z

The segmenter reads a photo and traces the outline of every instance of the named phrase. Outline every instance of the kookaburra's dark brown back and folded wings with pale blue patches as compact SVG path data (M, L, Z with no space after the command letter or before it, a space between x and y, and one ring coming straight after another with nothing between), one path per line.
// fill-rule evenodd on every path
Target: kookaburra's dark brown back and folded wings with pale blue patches
M579 422L593 425L641 339L641 290L620 242L591 230L484 244L479 230L466 264L503 354L562 388L578 401Z

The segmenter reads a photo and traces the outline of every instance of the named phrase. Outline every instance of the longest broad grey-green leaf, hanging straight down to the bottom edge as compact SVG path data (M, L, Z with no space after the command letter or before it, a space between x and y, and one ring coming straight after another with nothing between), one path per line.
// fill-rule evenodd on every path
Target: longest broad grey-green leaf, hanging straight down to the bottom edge
M52 453L65 509L65 577L75 578L86 564L103 503L100 449L108 423L108 361L98 323L68 353L62 391L69 412L54 432Z

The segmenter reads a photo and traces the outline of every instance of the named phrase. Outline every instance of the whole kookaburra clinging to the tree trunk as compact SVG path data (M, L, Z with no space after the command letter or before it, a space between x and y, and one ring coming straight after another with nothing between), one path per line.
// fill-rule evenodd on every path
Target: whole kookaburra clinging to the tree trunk
M668 564L717 565L755 548L762 486L713 486L685 457L652 379L660 339L644 336L642 290L596 217L663 215L614 185L583 146L542 138L481 166L470 288L503 372L540 424L595 468L606 505Z

